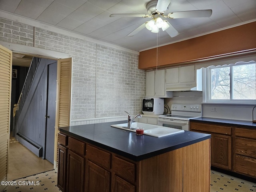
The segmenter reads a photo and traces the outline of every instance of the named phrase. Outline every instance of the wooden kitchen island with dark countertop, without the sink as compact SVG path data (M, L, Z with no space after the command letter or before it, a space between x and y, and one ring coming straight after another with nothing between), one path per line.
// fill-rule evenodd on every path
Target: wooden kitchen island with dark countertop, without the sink
M209 192L210 134L156 138L108 122L59 128L58 187L81 192Z

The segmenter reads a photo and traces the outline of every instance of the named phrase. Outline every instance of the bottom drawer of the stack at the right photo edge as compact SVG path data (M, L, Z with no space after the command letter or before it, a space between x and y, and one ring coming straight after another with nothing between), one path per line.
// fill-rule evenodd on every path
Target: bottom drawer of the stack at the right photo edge
M256 159L236 155L234 171L256 178Z

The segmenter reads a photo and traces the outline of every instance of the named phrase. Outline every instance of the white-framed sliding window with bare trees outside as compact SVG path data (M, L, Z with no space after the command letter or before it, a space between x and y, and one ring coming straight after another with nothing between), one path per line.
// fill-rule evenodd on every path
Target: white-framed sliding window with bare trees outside
M256 62L237 62L207 69L207 102L256 102Z

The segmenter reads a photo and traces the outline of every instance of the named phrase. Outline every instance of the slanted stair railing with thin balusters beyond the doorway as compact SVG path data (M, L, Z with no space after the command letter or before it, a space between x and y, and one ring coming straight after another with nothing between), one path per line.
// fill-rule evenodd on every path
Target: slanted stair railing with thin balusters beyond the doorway
M28 92L30 90L30 86L33 82L34 76L36 74L36 70L38 68L38 65L40 63L41 58L39 57L33 57L30 67L28 69L28 73L25 79L25 82L23 84L21 93L20 93L20 97L16 106L16 115L15 115L15 126L16 126L16 122L18 121L18 118L20 116L20 113L22 111L23 105L26 101L26 97L28 95Z

